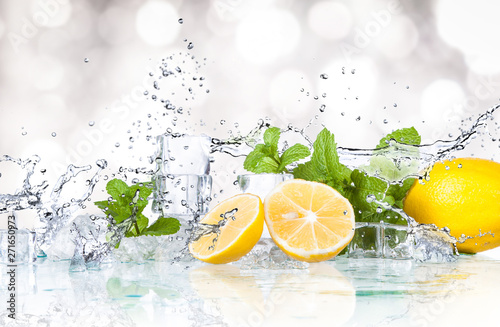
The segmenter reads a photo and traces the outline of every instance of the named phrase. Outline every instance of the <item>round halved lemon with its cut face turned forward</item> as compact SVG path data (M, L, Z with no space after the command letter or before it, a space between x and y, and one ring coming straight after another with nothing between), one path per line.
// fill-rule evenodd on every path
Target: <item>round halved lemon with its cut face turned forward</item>
M333 258L354 236L349 201L328 185L285 181L264 201L266 225L278 247L300 261Z

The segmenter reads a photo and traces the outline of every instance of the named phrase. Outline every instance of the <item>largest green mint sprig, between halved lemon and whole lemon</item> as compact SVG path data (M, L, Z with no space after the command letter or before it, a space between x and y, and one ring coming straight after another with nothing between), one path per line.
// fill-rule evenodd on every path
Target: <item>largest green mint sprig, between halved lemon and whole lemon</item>
M412 127L400 129L385 136L380 140L378 148L388 147L391 139L406 144L420 143L420 135ZM413 149L414 155L418 155L418 151L415 154L414 147L411 149ZM378 161L374 158L377 158ZM385 158L383 154L372 157L368 167L359 168L351 170L340 163L335 137L325 128L318 134L313 144L311 160L298 165L293 170L293 175L295 178L330 185L339 191L353 206L356 221L403 223L404 219L399 214L384 210L373 200L376 199L402 208L403 199L413 184L414 178L407 178L402 183L391 184L390 180L380 174L370 176L367 171L375 173L383 171L385 174L392 174L393 177L397 173L402 173L400 167L397 167L390 158Z

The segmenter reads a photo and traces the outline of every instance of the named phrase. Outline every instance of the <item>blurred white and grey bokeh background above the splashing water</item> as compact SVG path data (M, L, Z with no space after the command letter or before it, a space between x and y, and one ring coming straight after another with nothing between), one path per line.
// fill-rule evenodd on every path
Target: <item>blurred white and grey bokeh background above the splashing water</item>
M324 124L346 147L373 147L409 126L426 143L452 139L462 120L498 102L499 7L488 0L2 0L0 152L39 155L37 178L53 183L68 164L99 158L109 173L150 167L150 140L167 128L226 138L259 119L298 128L312 119L312 137ZM165 58L184 75L156 90ZM160 99L183 114L167 112ZM498 143L483 145L482 156L497 158ZM234 190L241 159L217 156L215 191ZM2 171L2 190L22 177Z

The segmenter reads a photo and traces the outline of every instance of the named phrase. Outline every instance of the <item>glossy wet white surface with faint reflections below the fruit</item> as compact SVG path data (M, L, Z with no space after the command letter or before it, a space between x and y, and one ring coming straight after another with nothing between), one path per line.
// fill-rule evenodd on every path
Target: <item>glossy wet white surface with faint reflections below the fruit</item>
M339 257L298 270L154 261L84 273L68 267L19 266L18 319L3 311L2 325L484 325L500 289L500 261L480 255L446 264Z

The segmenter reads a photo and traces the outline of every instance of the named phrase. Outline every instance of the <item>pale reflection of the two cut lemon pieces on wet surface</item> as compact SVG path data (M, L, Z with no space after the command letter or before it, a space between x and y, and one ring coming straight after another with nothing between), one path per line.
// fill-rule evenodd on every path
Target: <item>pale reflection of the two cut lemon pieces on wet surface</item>
M327 263L307 271L243 271L204 266L189 273L192 288L229 326L341 326L354 314L356 292Z

